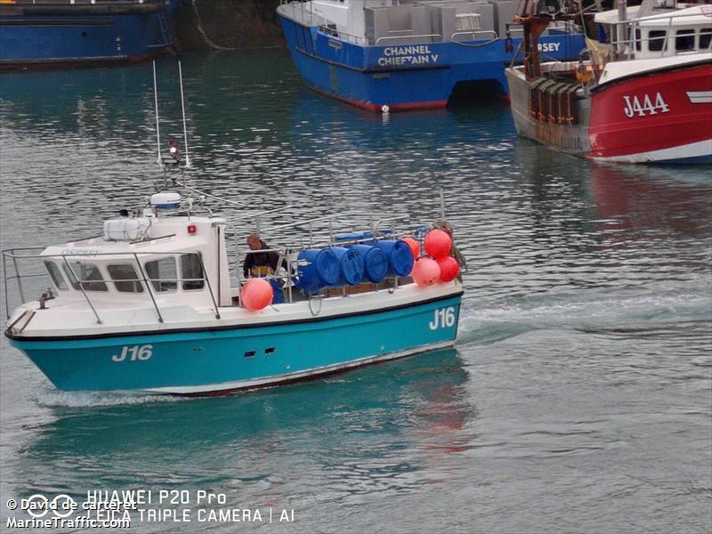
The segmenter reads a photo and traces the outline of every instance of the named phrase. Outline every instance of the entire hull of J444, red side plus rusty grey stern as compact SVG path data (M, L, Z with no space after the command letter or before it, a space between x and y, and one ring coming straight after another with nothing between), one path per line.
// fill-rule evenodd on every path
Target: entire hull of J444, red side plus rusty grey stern
M576 101L577 124L532 114L522 69L506 71L517 133L554 149L620 163L712 163L712 62L599 85Z

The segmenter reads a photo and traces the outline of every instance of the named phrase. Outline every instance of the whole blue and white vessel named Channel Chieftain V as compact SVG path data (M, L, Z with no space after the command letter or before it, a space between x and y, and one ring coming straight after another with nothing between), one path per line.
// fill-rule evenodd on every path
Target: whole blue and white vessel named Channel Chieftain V
M512 24L517 5L312 0L285 2L277 12L306 85L361 108L401 110L441 108L482 85L506 94L505 68L522 43L522 26ZM541 53L552 60L574 60L583 46L572 23L539 37Z

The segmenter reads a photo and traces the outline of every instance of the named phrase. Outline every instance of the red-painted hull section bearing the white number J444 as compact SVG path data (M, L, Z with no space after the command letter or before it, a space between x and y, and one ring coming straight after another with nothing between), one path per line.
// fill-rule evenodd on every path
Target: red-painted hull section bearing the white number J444
M588 130L590 156L614 158L664 150L712 139L712 103L693 103L688 93L712 89L712 62L681 69L656 71L611 82L595 93ZM655 108L658 98L668 111ZM625 98L624 98L625 97ZM627 102L635 99L651 109L634 112Z

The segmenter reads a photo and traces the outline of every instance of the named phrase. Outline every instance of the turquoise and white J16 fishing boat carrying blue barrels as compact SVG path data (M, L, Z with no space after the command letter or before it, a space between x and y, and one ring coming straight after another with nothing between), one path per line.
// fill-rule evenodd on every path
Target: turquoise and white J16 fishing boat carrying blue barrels
M243 250L245 231L200 211L200 198L161 191L104 222L100 237L4 251L5 287L18 280L24 296L14 268L32 258L52 285L8 312L5 336L61 390L174 394L284 384L454 344L462 284L440 271L414 282L404 232L374 223L317 242L311 220L301 247ZM279 267L246 279L250 254L279 255Z

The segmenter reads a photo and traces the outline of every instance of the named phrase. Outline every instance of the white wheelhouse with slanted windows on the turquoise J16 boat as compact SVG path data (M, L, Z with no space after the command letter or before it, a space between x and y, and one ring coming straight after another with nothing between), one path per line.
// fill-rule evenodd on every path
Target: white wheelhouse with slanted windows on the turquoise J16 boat
M106 221L99 237L45 248L41 256L57 295L98 304L154 297L158 303L231 305L224 219L159 217L156 212L171 206L160 204L164 200L165 193L154 195L142 216Z

